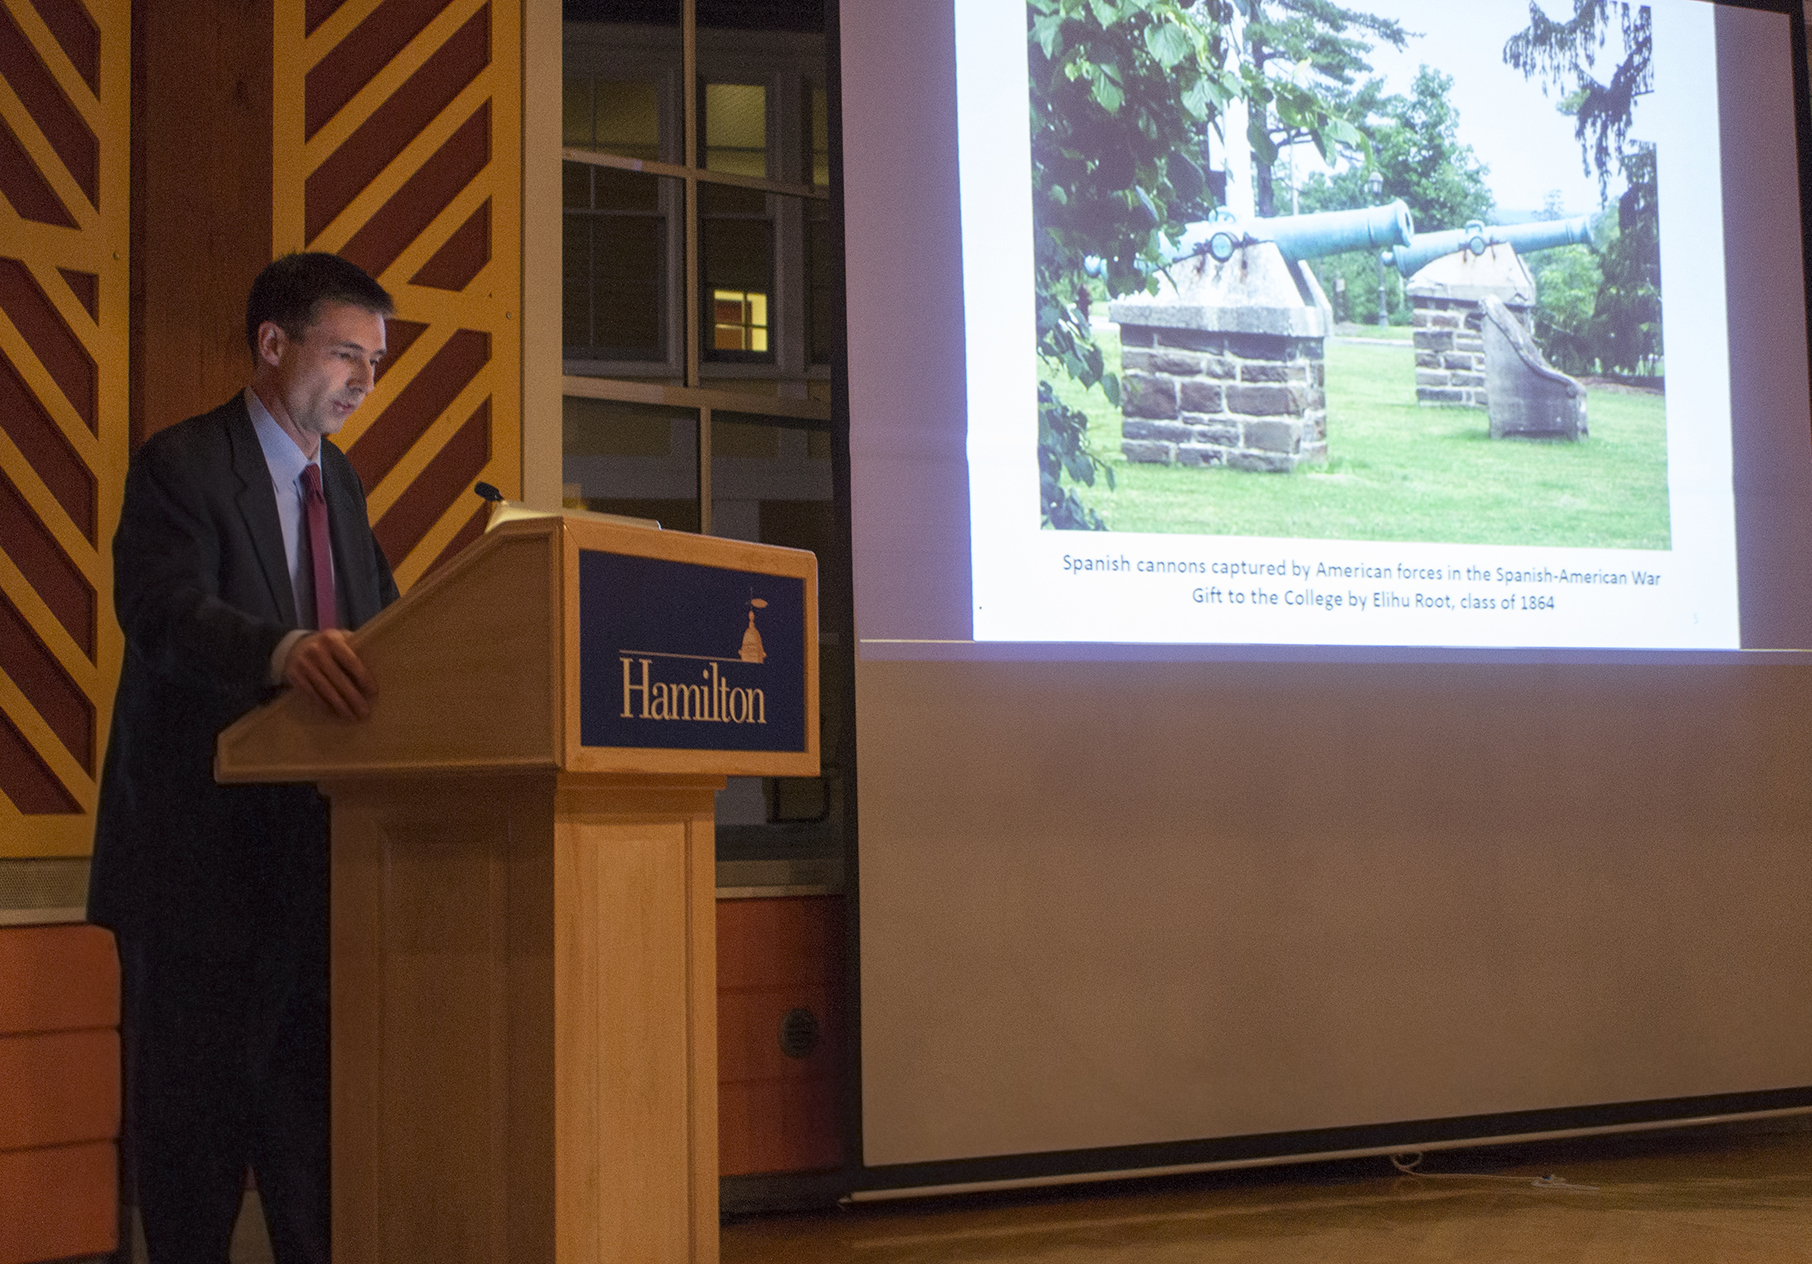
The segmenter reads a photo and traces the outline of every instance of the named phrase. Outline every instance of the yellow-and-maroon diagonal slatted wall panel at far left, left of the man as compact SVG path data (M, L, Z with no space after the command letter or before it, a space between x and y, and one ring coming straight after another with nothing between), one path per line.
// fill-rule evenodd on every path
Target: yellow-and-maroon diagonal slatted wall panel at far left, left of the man
M82 855L121 641L127 0L0 0L0 857Z

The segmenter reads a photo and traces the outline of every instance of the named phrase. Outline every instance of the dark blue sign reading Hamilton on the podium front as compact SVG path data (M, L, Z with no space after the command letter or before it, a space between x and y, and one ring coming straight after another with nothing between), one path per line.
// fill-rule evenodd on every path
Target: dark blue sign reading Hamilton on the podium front
M580 744L806 750L794 576L578 551Z

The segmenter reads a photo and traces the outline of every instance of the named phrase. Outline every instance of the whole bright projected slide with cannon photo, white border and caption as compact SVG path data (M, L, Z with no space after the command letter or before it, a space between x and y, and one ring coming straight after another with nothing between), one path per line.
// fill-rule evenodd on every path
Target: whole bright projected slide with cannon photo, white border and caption
M957 5L977 641L1740 646L1714 11L1546 7Z

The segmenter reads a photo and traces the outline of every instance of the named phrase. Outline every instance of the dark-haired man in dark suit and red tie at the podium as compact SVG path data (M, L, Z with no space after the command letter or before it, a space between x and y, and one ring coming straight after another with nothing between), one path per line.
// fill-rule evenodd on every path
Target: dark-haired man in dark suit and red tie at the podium
M277 1264L328 1260L326 806L216 784L214 739L284 685L370 713L350 630L397 585L326 436L371 389L391 310L344 259L277 259L246 304L252 384L127 474L89 918L120 940L154 1264L226 1262L248 1166Z

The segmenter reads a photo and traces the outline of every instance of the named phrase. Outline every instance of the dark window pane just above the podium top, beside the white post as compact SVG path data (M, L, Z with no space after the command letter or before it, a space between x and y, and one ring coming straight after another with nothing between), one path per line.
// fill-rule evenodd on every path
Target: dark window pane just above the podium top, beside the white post
M587 509L698 531L698 413L565 397L564 473Z

